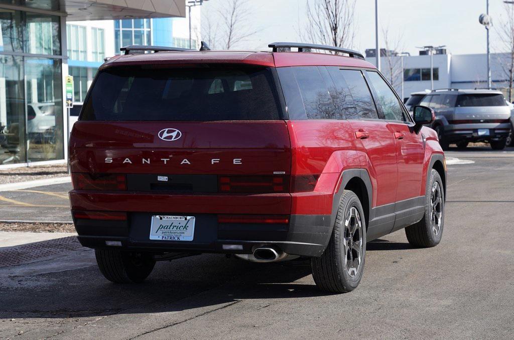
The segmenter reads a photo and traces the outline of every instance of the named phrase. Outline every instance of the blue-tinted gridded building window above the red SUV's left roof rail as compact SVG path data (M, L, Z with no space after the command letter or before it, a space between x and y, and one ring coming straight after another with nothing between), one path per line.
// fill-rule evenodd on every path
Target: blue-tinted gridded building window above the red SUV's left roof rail
M152 45L150 19L123 19L114 21L116 54L128 45Z

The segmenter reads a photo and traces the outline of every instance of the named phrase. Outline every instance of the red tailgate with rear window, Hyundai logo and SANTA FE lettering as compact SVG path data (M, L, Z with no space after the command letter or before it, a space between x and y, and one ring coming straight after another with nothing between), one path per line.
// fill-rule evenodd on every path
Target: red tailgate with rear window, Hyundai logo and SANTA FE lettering
M128 191L287 192L290 142L273 72L223 64L101 70L71 133L75 189L77 174L122 174Z

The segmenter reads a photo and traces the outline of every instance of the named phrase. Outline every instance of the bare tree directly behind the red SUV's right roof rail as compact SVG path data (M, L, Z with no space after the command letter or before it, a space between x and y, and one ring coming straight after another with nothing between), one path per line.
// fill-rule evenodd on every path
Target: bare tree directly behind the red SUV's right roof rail
M310 43L353 47L355 0L306 0L307 22L299 27Z

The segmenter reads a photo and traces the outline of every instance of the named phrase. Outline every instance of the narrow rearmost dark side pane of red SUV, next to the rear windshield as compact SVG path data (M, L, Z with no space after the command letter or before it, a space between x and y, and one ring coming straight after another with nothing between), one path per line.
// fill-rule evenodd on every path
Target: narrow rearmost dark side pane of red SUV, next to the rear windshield
M284 93L289 119L307 119L302 94L291 67L278 67L280 87Z

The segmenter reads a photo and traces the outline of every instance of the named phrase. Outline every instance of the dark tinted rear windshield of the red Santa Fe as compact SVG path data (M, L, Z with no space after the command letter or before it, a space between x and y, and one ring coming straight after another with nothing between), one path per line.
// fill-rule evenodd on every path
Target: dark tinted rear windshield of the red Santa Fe
M281 119L273 74L263 67L110 68L101 71L83 121Z

